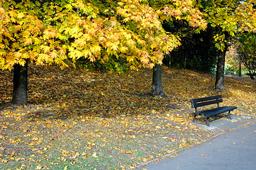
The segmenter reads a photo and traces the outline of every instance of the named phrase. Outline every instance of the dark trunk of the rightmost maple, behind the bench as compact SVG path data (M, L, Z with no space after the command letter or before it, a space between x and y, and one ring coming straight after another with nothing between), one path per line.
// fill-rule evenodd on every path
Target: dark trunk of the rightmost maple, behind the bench
M224 86L224 69L225 69L226 51L227 51L227 47L223 51L220 50L218 55L215 89L226 90L226 87Z

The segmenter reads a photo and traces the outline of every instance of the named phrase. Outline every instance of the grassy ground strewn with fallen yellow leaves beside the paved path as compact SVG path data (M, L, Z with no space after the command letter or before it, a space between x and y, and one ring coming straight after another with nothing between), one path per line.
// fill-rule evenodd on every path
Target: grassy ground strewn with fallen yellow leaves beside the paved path
M255 115L255 81L163 68L167 98L152 97L152 72L97 74L29 69L28 106L13 106L11 73L0 72L0 169L133 169L214 135L191 125L191 98L222 94L235 114Z

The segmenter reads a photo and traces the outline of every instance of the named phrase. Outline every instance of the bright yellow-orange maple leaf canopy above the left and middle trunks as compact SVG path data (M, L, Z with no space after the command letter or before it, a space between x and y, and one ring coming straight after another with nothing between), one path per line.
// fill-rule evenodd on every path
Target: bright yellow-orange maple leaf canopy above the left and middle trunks
M155 9L138 0L1 1L0 67L11 69L26 59L67 67L67 59L105 63L114 57L124 58L132 69L152 68L179 45L176 36L165 33L160 17L190 13L191 24L202 25L191 1L161 3Z

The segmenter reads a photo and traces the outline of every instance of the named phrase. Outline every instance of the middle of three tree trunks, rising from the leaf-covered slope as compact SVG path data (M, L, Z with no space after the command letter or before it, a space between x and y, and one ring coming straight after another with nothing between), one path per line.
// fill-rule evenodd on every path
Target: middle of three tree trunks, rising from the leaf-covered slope
M162 89L162 65L155 64L153 68L152 95L165 97L165 91Z

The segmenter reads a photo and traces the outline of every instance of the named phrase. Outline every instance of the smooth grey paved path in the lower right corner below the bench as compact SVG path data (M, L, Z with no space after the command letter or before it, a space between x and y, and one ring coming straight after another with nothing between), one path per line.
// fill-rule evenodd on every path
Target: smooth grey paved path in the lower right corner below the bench
M139 169L148 170L204 170L204 169L256 169L256 123L250 121L233 132L227 132L201 145Z

